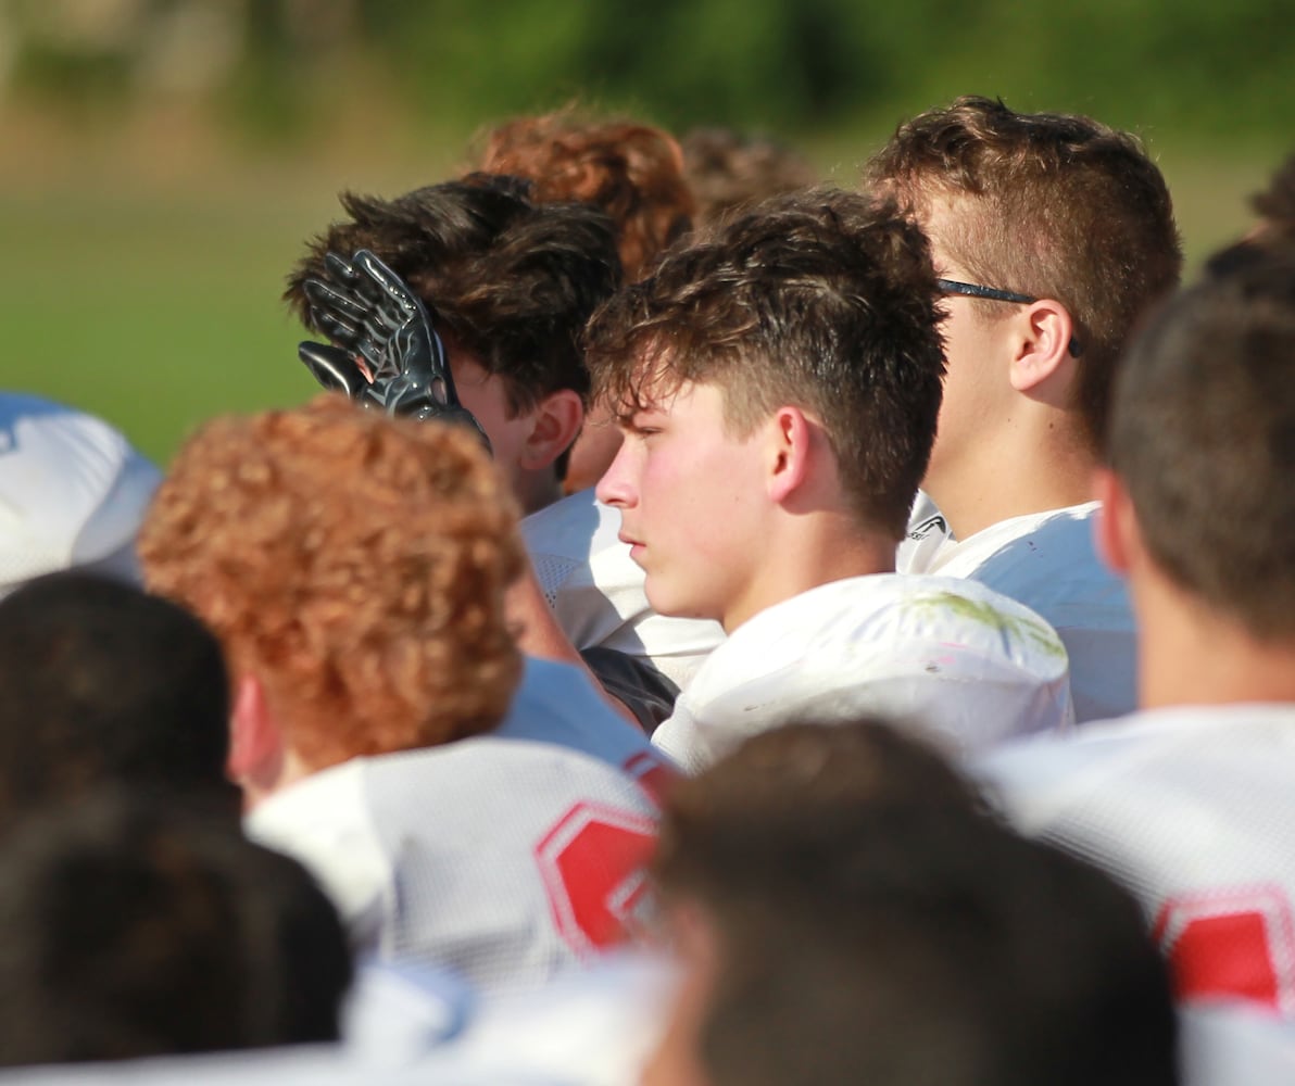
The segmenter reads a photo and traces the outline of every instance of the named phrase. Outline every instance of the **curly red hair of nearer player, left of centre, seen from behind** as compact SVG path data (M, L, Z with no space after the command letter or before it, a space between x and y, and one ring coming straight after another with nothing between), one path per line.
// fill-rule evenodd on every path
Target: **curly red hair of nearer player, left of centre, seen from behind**
M493 727L521 676L517 510L465 427L338 395L218 418L140 533L149 586L201 615L321 769Z

